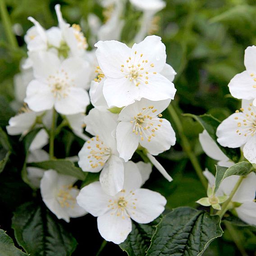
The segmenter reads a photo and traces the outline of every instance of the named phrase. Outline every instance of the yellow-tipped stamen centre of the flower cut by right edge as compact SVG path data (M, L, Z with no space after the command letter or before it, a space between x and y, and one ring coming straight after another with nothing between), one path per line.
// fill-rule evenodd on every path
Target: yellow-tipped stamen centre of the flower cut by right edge
M240 109L243 113L243 117L235 117L237 120L238 130L236 131L238 135L251 135L254 136L256 133L256 110L252 104L249 105L247 110L243 108ZM239 110L236 110L236 113L239 113Z

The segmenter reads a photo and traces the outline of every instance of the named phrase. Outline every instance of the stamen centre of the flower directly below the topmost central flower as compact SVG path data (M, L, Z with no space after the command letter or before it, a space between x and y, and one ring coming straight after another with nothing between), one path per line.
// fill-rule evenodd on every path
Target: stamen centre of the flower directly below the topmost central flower
M163 119L159 117L162 117L162 114L154 114L156 111L154 106L142 108L142 111L130 121L133 123L133 133L140 135L142 141L146 137L147 141L151 142L152 137L155 137L155 131L161 127Z

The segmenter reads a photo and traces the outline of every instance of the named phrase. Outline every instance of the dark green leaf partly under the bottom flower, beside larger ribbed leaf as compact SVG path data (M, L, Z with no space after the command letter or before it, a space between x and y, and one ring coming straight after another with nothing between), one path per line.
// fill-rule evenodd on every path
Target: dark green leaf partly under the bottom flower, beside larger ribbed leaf
M160 219L155 219L149 224L138 224L133 222L132 232L129 233L127 239L119 244L119 247L126 251L129 256L145 255L146 250L150 246L150 241L155 233L155 227L159 224Z

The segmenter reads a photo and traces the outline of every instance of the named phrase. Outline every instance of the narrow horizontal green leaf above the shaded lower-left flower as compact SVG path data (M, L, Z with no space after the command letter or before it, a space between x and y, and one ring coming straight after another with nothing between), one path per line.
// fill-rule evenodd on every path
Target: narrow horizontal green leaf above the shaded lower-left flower
M80 180L84 180L86 177L86 174L82 171L82 169L76 167L74 163L69 160L49 160L37 163L30 163L28 164L28 166L38 167L45 170L54 169L60 174L73 176Z

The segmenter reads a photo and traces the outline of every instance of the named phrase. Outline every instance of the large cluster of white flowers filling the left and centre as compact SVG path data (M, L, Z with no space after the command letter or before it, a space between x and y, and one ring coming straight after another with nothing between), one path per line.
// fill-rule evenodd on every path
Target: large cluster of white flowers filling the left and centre
M165 6L157 0L143 9L140 1L131 2L145 12L144 25ZM102 4L108 6L110 1ZM27 178L32 187L40 187L43 201L59 219L69 222L70 217L90 213L98 217L103 238L121 243L132 230L131 219L149 223L165 209L163 196L141 187L152 165L172 181L155 156L176 142L171 124L161 114L174 99L176 73L166 64L160 37L142 40L148 27L142 26L134 39L141 42L131 48L116 41L123 26L119 16L124 1L113 0L111 6L114 11L98 29L95 38L100 41L91 51L81 27L66 23L59 5L55 6L58 27L46 30L28 18L34 26L25 36L28 58L15 78L18 98L14 107L25 104L22 113L9 120L7 131L24 137L40 129L27 164L54 160L52 142L63 126L82 138L85 143L78 159L72 161L78 161L84 172L101 172L99 181L80 191L77 178L37 167L27 167ZM85 115L90 102L94 108ZM59 119L62 122L56 128ZM42 149L48 143L49 154ZM132 161L136 151L146 163Z

